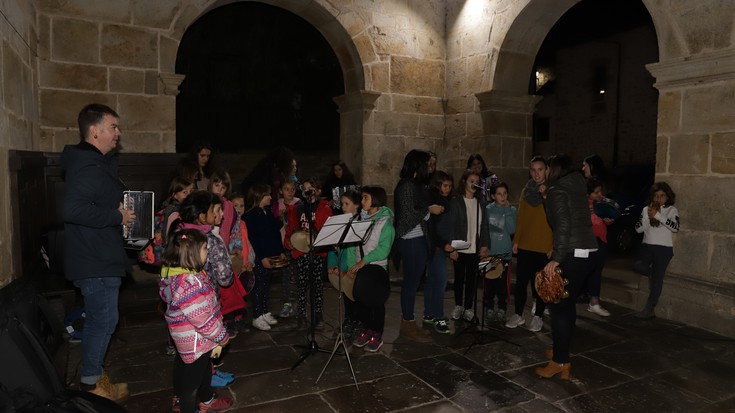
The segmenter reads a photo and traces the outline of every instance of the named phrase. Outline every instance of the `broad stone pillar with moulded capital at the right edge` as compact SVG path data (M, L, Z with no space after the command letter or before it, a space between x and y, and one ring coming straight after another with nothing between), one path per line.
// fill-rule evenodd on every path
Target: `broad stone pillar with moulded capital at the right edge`
M646 68L659 90L656 180L681 218L656 311L735 336L735 50Z

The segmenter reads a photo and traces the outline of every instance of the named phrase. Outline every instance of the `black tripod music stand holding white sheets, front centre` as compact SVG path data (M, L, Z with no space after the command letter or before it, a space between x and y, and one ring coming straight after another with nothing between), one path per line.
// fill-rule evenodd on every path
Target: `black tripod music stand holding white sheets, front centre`
M314 246L320 247L334 245L337 248L337 268L340 268L342 257L342 251L340 249L349 244L364 244L365 240L370 235L372 227L372 221L354 221L354 216L352 214L332 216L327 218L327 222L324 223L322 230L319 231L319 235L314 241ZM344 341L344 332L342 330L342 275L339 276L338 290L337 311L339 318L339 334L337 334L337 339L334 341L334 348L332 348L329 360L327 360L327 363L324 365L322 372L319 373L319 377L316 378L314 384L316 385L319 383L319 380L322 378L322 375L324 375L324 372L327 371L327 367L329 367L332 359L334 359L334 355L337 353L337 349L339 349L341 345L345 357L347 357L347 364L350 366L350 372L352 373L352 380L355 382L355 388L360 390L360 387L357 385L355 369L352 368L350 353L347 350L347 343Z

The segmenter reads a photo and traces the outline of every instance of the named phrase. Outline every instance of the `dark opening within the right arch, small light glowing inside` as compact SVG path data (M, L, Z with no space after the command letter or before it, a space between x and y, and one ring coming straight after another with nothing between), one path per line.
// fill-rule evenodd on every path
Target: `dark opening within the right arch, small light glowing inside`
M542 96L533 115L533 152L592 154L606 166L605 193L629 207L609 227L608 244L628 253L634 224L653 183L658 91L645 65L658 61L656 32L641 1L584 0L544 39L529 93Z

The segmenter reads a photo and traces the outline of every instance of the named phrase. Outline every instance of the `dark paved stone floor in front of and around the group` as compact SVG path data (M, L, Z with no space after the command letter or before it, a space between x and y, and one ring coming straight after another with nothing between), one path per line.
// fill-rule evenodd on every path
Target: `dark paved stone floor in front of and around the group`
M276 277L278 278L278 277ZM271 290L278 312L280 285ZM447 314L453 307L447 292ZM327 329L320 349L331 350L338 326L336 291L325 285ZM156 278L140 275L121 292L119 331L108 371L129 383L131 413L168 412L172 357L166 356L166 326L157 311ZM315 383L329 354L317 352L295 366L308 340L293 319L270 332L253 329L231 341L222 370L236 375L220 389L235 400L232 412L735 412L735 345L722 337L664 319L638 321L632 311L606 304L602 319L578 306L572 380L540 379L550 345L549 320L539 333L496 325L482 334L452 322L452 335L433 333L416 344L398 337L399 287L387 303L385 345L375 354L350 347L356 388L345 355L336 355ZM417 318L423 296L417 298ZM528 311L526 311L528 318ZM528 323L527 323L528 324ZM70 376L78 370L72 349ZM295 366L295 368L294 368ZM78 378L75 380L78 383Z

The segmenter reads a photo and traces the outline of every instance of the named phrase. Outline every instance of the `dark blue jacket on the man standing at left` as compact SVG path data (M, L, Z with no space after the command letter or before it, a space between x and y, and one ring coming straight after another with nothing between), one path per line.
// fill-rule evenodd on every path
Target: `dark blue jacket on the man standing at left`
M64 184L64 272L69 280L124 277L130 270L118 211L125 189L117 152L106 155L87 142L61 154Z

